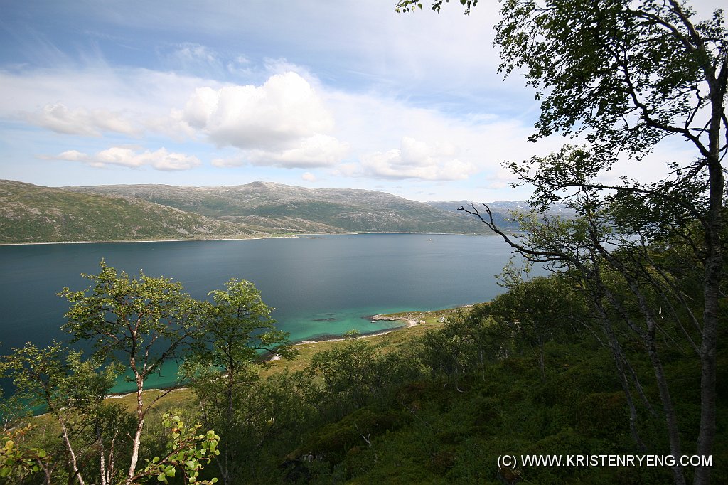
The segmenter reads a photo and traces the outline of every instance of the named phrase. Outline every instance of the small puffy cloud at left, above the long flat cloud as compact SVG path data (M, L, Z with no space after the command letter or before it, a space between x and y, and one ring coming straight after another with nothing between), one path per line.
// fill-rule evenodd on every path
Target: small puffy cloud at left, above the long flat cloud
M28 121L68 135L100 136L102 132L138 135L138 130L121 114L106 109L68 109L62 103L47 104L41 111L28 114Z

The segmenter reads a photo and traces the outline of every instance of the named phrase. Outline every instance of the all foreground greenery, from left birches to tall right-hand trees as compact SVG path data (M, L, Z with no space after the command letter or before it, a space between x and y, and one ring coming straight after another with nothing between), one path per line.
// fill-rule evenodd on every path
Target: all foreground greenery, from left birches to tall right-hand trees
M477 1L461 3L470 12ZM501 13L502 69L523 68L539 88L534 138L583 132L590 143L508 164L535 187L522 237L487 205L466 210L529 261L504 269L506 293L406 332L301 346L305 360L286 365L257 357L295 352L248 283L233 280L205 303L102 263L88 293L63 292L74 304L68 329L97 343L92 358L29 344L0 363L54 419L39 433L22 401L4 404L0 480L131 484L181 479L183 465L184 481L213 481L201 462L219 438L226 484L727 482L728 393L717 385L728 378L724 16L693 23L675 0L508 0ZM667 164L654 184L598 181L618 154L640 159L668 135L692 143L695 160ZM554 203L574 217L547 213ZM553 275L530 278L533 262ZM118 372L103 357L119 355L138 383L131 414L102 399ZM172 441L145 424L170 403L145 406L143 382L173 357L191 369L186 413L222 427L219 436L195 435L175 413L162 415ZM129 438L124 452L119 436ZM157 459L139 471L138 452ZM562 465L523 458L542 455ZM667 455L675 461L660 466L601 460ZM107 473L111 462L130 463L128 473Z

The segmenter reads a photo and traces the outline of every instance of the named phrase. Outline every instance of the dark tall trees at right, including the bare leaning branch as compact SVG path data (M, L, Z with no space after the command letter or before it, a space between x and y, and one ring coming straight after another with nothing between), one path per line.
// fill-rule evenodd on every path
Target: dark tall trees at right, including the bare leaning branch
M432 9L443 3L435 0ZM470 14L478 1L460 3ZM416 7L422 4L400 0L396 9ZM636 357L626 351L638 345L654 373L670 453L680 456L695 443L697 454L708 456L718 430L726 294L724 12L700 20L680 0L506 0L500 14L500 71L523 73L541 103L531 140L562 133L587 144L505 164L518 177L515 185L535 187L534 213L521 218L523 240L502 232L487 205L464 210L529 261L561 272L585 299L616 363L633 439L641 442L636 402L649 402L633 371ZM604 182L620 157L637 164L668 137L687 142L693 159L664 160L652 183ZM545 214L555 203L566 203L576 217ZM662 339L700 361L700 425L689 432L666 370L673 349ZM678 485L691 478L682 464L672 471ZM707 484L711 473L698 465L692 481Z

